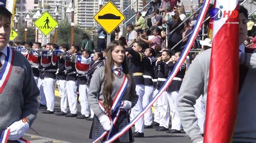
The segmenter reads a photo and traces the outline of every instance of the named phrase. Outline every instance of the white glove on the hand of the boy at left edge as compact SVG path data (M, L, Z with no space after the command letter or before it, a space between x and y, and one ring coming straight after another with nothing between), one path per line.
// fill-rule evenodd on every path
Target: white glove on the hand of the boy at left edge
M18 140L25 134L26 131L29 131L29 123L24 123L22 120L15 121L8 127L8 129L9 128L10 135L8 140Z

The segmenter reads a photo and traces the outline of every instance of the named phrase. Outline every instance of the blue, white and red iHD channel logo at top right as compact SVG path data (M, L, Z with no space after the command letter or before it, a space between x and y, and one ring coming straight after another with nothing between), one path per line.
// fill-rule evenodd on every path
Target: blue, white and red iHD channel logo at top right
M211 19L214 21L217 21L221 18L236 18L238 17L238 11L237 10L222 10L223 5L220 5L219 8L213 8L210 11Z

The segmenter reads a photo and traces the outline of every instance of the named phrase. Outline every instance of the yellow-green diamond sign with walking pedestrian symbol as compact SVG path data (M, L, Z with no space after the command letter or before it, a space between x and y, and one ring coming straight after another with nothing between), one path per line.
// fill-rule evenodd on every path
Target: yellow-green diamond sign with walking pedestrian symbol
M43 15L35 21L35 25L44 35L48 35L58 25L58 22L52 18L49 12L45 11Z

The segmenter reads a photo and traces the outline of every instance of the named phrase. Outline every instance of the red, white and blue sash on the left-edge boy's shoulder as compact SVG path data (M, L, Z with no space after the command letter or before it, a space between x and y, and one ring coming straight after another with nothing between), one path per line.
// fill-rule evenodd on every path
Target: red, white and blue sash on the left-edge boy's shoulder
M5 56L4 64L0 70L0 94L4 90L4 87L9 80L11 70L12 70L12 65L14 65L13 63L14 63L14 51L12 51L12 49L7 47L7 55Z

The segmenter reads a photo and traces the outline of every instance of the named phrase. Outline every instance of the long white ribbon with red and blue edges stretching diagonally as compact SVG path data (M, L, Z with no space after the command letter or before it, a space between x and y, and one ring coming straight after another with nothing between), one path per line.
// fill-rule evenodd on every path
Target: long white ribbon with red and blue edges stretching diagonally
M105 142L113 142L114 140L116 140L117 138L119 138L122 134L124 134L126 131L129 130L129 128L131 128L136 121L138 121L141 117L144 116L144 114L146 113L147 110L149 110L152 105L154 104L154 102L157 101L157 99L161 96L161 94L163 94L163 92L169 87L169 85L171 84L173 77L176 76L176 74L178 73L181 65L183 64L183 62L186 59L187 54L190 52L191 47L193 46L193 42L194 40L196 40L196 37L198 35L198 32L200 30L201 24L204 21L208 6L210 4L210 0L206 0L204 1L204 4L200 10L198 19L197 19L197 24L194 26L192 34L190 35L190 38L188 39L187 44L185 45L185 48L183 50L183 52L180 55L179 60L177 61L174 69L172 70L172 72L170 73L169 77L167 78L166 82L164 83L163 87L161 87L161 89L158 91L158 94L152 99L152 101L143 109L142 112L139 113L139 115L137 115L137 117L135 117L129 124L127 124L125 127L123 127L117 134L113 135L112 138L110 138L109 140L105 141Z

